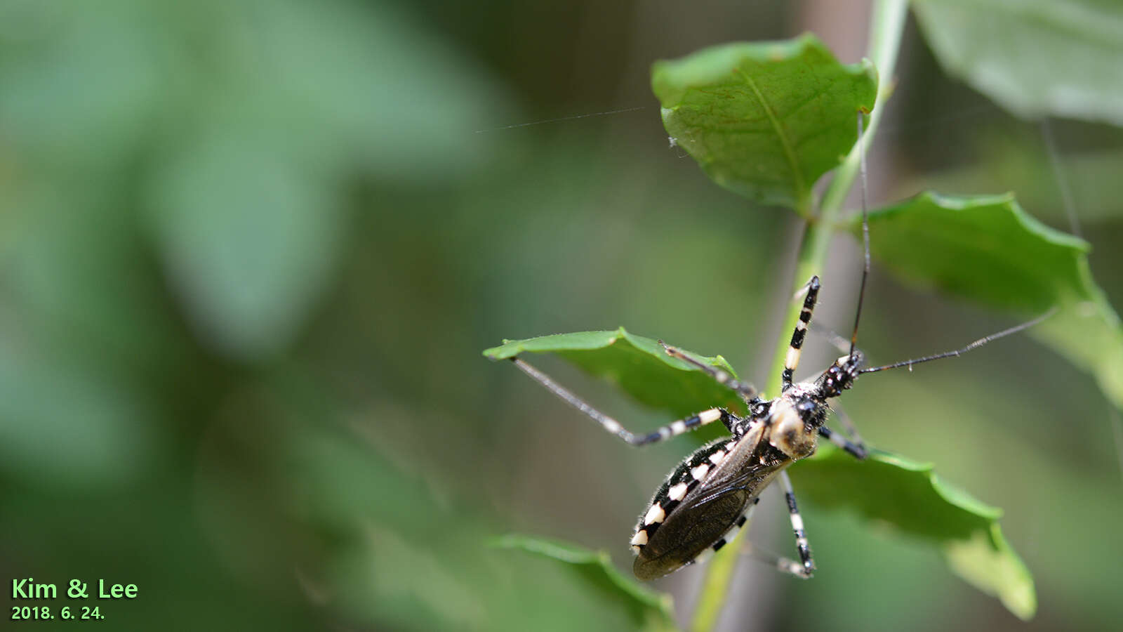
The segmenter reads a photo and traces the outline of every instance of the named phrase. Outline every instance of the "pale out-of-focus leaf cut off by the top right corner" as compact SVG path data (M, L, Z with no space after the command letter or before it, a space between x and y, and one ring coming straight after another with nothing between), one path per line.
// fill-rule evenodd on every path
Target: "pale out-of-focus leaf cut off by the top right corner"
M921 0L913 7L944 70L1010 111L1123 125L1117 0Z

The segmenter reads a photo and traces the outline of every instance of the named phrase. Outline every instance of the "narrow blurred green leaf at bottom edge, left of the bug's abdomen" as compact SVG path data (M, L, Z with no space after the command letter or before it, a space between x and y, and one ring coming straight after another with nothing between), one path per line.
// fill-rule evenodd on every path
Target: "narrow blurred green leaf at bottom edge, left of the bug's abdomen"
M497 538L492 545L518 549L573 565L591 587L627 608L640 630L656 632L678 629L675 625L670 595L656 593L626 577L612 566L608 551L591 551L575 544L517 534Z

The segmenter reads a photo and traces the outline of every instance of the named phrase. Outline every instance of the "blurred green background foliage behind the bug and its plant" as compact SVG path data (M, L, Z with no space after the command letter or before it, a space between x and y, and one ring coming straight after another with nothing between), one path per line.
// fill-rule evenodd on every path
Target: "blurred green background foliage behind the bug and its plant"
M630 450L480 351L626 325L764 382L798 226L668 147L648 67L805 30L855 62L868 10L0 1L0 579L136 584L98 604L107 630L637 628L573 570L485 543L630 565L634 516L693 444ZM1013 190L1068 229L1040 124L944 78L912 25L897 80L874 204ZM1123 305L1123 134L1051 127ZM853 273L824 279L816 319L839 329L858 254L841 237ZM871 362L1011 323L876 267L866 309ZM833 356L810 346L809 371ZM668 421L540 364L633 428ZM811 505L815 579L746 561L724 629L1117 629L1123 439L1087 376L1021 336L844 404L874 444L1006 509L1038 617ZM788 551L769 506L752 539ZM681 620L701 577L656 584Z

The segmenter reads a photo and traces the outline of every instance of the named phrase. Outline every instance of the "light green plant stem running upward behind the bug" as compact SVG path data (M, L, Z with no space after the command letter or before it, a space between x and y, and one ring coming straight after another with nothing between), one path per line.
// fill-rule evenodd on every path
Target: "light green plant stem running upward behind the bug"
M901 47L901 35L904 31L907 2L905 0L879 0L874 7L869 30L868 55L873 60L878 72L877 105L869 117L869 125L862 134L861 142L869 146L885 112L884 102L892 91L893 70L896 65L897 51ZM798 259L795 265L795 279L793 291L797 291L811 278L812 274L823 276L823 265L827 261L827 251L838 220L842 202L846 200L853 180L860 166L860 153L858 145L850 150L849 155L838 168L833 180L823 195L823 201L818 217L811 213L810 199L806 208L796 209L802 217L811 218L805 220L803 238L800 245ZM791 301L784 323L795 323L802 307L801 301ZM784 369L784 360L787 354L787 329L777 345L776 359L773 362L772 372L768 377L765 392L776 394L779 391L779 376ZM743 531L748 531L742 530ZM741 540L745 541L743 538ZM718 624L718 619L725 604L729 593L729 584L733 577L733 569L737 567L740 547L725 547L725 550L714 556L710 561L705 581L702 586L699 605L694 611L691 621L692 632L711 632Z

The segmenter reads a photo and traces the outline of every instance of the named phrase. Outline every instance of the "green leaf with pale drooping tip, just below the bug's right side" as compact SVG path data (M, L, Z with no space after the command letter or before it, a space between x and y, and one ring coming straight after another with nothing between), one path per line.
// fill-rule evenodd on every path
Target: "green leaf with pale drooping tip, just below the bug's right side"
M849 508L865 520L940 545L951 570L1030 619L1037 608L1033 578L998 527L1002 509L948 485L919 463L874 451L857 461L830 445L792 468L801 497Z

